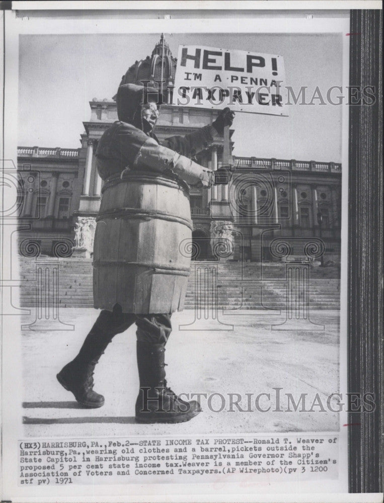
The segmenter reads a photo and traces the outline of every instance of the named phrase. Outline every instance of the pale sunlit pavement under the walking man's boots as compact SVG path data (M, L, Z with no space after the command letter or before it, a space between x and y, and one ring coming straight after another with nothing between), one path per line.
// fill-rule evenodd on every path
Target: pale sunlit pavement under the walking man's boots
M76 355L97 314L95 309L63 308L60 320L69 325L52 323L53 329L48 330L34 325L36 329L22 331L26 437L338 430L336 412L320 411L321 406L314 406L311 412L300 411L300 407L294 411L292 403L287 407L286 397L290 393L297 402L306 393L305 410L309 410L317 393L326 406L327 397L339 391L338 311L313 311L314 329L300 323L296 325L304 328L300 330L289 323L276 326L285 320L284 313L278 312L226 311L220 314L220 323L215 319L196 321L193 310L174 313L166 351L168 385L177 393L206 394L200 399L203 412L176 425L135 423L135 325L113 339L96 367L94 389L105 396L103 407L82 408L59 385L56 373ZM32 313L22 321L33 320ZM270 398L260 397L258 410L255 399L260 393ZM262 411L268 407L269 411Z

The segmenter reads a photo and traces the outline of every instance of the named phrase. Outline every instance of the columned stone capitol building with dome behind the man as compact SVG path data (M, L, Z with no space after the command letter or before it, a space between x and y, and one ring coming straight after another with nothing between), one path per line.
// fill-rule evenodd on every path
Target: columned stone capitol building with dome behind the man
M211 123L218 114L214 109L171 104L175 70L176 58L162 37L152 54L135 61L124 76L125 82L136 84L161 86L163 81L164 105L155 128L160 141L186 135ZM113 98L93 98L79 148L18 147L18 170L25 194L20 218L21 223L24 217L30 224L30 229L21 226L19 230L22 255L92 257L103 188L95 151L104 131L116 120ZM317 238L325 244L324 263L339 263L341 164L235 156L231 153L235 129L231 129L230 138L233 175L229 184L190 191L192 258L216 257L212 238L217 237L219 229L231 235L233 243L223 260L278 262L284 255L279 255L279 245L300 256L304 241ZM216 170L225 159L223 150L223 140L216 138L194 159Z

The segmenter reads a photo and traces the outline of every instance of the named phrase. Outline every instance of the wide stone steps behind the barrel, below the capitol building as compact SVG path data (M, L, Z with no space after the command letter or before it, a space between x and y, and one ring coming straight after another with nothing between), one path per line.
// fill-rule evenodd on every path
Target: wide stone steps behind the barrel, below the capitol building
M58 265L62 307L93 306L91 260L20 257L21 307L35 305L36 266L42 263L50 267ZM311 267L308 284L311 309L340 308L338 268ZM286 265L282 263L195 261L191 263L185 308L217 305L220 309L284 309L286 287ZM217 292L215 299L213 292ZM303 301L302 294L299 301Z

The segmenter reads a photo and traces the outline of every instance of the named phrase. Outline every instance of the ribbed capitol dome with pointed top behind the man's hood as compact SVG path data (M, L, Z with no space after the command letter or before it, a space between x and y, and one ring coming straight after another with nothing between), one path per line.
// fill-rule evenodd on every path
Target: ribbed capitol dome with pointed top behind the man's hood
M120 86L128 83L142 85L143 82L157 82L161 88L163 79L163 95L166 98L167 86L172 86L175 80L176 63L177 58L172 56L169 45L162 34L151 56L135 61L122 76Z

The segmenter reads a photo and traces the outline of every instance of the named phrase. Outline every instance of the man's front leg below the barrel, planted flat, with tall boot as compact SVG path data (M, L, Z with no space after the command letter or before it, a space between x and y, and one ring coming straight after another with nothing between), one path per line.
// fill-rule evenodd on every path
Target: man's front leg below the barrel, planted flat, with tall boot
M138 423L182 423L201 409L167 387L164 352L170 336L171 314L137 315L137 367L140 390L136 400Z

